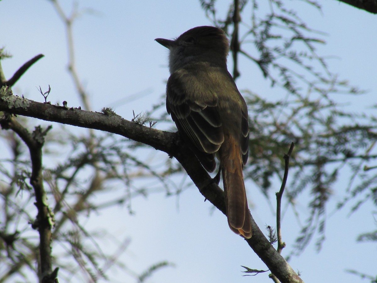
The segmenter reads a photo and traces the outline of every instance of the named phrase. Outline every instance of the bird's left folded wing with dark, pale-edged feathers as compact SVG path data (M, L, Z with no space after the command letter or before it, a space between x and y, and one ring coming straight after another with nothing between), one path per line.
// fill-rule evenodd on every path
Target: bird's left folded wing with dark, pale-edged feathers
M204 168L213 171L215 153L224 142L217 98L198 93L200 88L187 87L188 79L189 75L183 78L173 73L170 76L166 87L166 109Z

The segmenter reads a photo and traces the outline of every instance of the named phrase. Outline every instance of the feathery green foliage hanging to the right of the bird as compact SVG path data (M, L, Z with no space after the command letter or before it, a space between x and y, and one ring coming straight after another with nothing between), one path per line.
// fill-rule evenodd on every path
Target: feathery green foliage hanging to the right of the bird
M222 18L216 3L201 0L207 17L229 31L234 25L235 2ZM308 8L320 10L318 3L307 3ZM281 180L284 173L281 157L291 141L295 143L290 164L293 177L285 194L294 209L297 198L310 193L310 217L294 251L299 254L316 233L320 249L325 238L326 206L339 176L349 176L339 209L352 200L356 202L354 211L374 199L377 174L368 170L368 165L377 157L377 125L373 115L349 112L343 101L334 98L334 94L351 97L364 92L328 69L326 59L316 51L318 45L325 44L324 34L308 27L288 5L279 0L239 1L239 18L248 20L241 22L240 48L233 49L233 58L234 52L244 55L260 68L272 87L279 89L281 98L277 100L252 90L242 91L249 107L252 160L245 176L268 197L274 178ZM233 73L236 77L238 71Z

